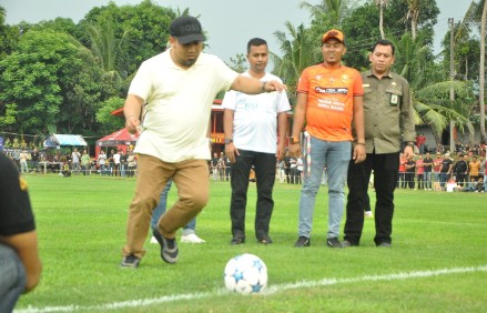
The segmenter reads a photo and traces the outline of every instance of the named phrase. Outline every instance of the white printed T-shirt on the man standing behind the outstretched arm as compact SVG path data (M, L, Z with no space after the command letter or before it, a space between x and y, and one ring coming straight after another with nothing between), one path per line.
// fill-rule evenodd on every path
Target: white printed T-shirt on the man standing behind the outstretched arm
M248 72L243 75L250 77ZM265 73L261 81L281 79ZM233 142L237 149L264 153L277 151L277 113L291 110L285 92L245 94L229 91L222 107L234 111Z

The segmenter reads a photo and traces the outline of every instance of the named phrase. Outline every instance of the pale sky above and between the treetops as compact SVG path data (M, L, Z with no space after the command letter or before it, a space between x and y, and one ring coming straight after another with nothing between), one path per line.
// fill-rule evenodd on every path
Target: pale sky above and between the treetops
M136 4L140 0L112 0L118 6ZM274 39L276 30L286 31L285 22L297 27L308 26L310 13L300 9L302 0L152 0L163 7L190 8L192 16L200 16L202 27L209 33L206 52L230 61L236 54L246 53L251 38L260 37L267 41L268 49L281 55ZM307 0L319 3L321 0ZM92 8L106 6L109 0L1 0L7 11L8 24L20 21L30 23L52 20L58 17L71 18L79 22ZM448 18L459 21L465 16L471 0L436 0L440 10L435 27L435 53L439 42L448 31ZM326 30L324 30L325 32ZM346 36L346 34L345 34Z

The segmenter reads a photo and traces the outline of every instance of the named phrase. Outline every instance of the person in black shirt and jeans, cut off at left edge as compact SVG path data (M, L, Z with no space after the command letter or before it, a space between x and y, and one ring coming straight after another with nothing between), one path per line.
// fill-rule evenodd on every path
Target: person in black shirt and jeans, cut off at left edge
M27 182L0 153L0 312L12 312L41 276L35 222Z

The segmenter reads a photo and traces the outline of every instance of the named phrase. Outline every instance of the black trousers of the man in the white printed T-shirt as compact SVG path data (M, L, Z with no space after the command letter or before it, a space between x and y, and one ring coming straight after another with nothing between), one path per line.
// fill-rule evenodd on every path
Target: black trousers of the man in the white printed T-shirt
M235 163L232 164L231 185L232 200L230 218L233 236L245 238L245 209L247 204L248 175L254 165L257 184L257 203L255 212L255 236L261 240L268 235L274 201L272 190L275 182L276 159L274 153L262 153L239 150Z

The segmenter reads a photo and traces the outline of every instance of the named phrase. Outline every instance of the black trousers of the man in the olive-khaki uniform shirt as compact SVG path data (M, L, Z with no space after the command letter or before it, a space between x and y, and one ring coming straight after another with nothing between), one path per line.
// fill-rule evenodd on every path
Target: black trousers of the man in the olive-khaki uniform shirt
M361 242L364 228L364 208L367 200L368 181L374 170L375 238L374 242L392 243L394 215L394 190L399 170L399 152L387 154L367 153L358 164L352 160L348 166L348 199L346 204L345 240L353 244Z

